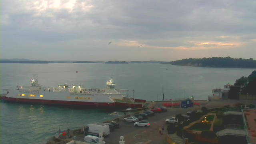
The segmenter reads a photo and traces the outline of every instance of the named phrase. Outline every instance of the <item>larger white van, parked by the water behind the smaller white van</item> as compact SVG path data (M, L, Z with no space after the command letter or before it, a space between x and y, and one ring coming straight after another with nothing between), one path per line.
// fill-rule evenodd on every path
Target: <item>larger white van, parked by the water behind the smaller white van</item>
M103 134L103 136L109 136L110 130L108 124L103 124L100 122L93 122L92 124L88 124L86 127L84 127L84 134L90 134L94 136L99 136L100 133Z

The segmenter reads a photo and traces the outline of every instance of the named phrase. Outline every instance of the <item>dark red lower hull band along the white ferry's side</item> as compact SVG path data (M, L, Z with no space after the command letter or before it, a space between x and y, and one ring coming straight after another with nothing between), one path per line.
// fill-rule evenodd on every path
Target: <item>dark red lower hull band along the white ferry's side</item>
M56 104L56 105L80 105L80 106L115 106L115 103L108 102L76 102L76 101L65 101L65 100L40 100L40 99L28 99L28 98L5 98L9 102L26 102L35 104Z

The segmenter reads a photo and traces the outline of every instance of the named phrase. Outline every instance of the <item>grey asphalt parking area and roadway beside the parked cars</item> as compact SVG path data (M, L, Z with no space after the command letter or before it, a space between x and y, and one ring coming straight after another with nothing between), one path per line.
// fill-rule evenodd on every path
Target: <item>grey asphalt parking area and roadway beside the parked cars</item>
M168 112L148 116L147 121L150 122L150 127L135 127L132 122L118 122L120 128L110 132L110 136L105 138L104 141L106 144L119 144L120 136L124 136L126 144L165 144L165 134L159 134L161 126L164 126L166 130L165 120L175 117L176 114L185 114L188 111L197 109L200 109L200 107L190 109L168 108Z

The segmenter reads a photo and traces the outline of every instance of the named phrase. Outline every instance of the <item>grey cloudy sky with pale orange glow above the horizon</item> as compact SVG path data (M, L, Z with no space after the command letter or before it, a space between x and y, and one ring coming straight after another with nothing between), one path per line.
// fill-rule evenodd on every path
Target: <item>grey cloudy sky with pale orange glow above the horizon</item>
M1 58L256 59L256 1L1 0L0 41Z

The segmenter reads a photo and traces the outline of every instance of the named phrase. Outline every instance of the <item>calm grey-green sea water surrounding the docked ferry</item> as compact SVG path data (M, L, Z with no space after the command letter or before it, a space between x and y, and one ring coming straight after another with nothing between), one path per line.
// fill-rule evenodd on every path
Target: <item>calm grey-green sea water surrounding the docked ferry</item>
M168 69L168 70L166 70ZM146 100L194 96L207 98L213 88L233 84L254 69L198 68L165 64L1 64L0 88L30 85L33 74L44 86L82 85L105 88L113 75L116 88L135 90L135 98ZM76 73L78 71L78 73ZM0 91L4 93L4 91ZM132 97L132 94L129 95ZM64 107L0 102L0 143L44 143L61 130L78 128L92 121L104 121L113 115L100 110L76 110Z

